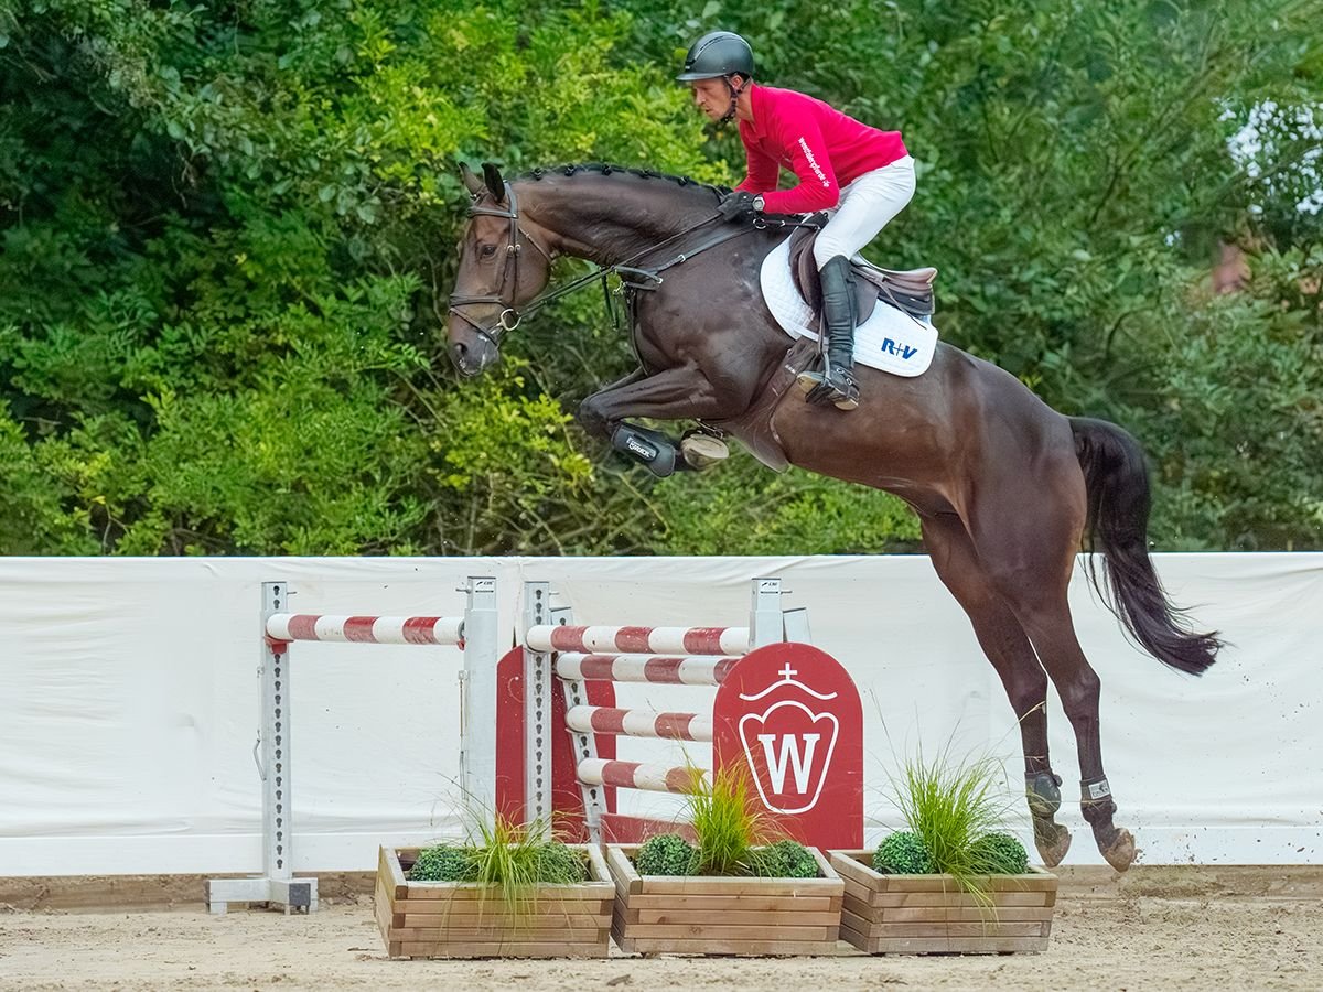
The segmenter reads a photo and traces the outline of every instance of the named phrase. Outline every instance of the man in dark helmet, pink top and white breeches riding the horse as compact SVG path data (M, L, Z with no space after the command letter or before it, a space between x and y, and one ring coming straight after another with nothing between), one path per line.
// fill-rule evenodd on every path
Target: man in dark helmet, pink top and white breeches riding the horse
M900 131L878 131L794 90L754 86L753 49L717 30L689 46L676 78L717 123L740 122L747 176L721 202L728 220L767 213L831 212L814 243L823 287L823 370L799 385L811 402L859 406L855 384L855 284L851 258L914 196L914 160ZM798 177L777 189L779 167Z

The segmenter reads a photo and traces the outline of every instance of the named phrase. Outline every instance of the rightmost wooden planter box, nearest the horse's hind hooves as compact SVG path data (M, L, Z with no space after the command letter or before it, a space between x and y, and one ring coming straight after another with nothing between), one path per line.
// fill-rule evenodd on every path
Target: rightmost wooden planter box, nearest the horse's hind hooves
M987 878L992 906L980 906L949 874L881 874L872 850L832 850L845 882L840 936L868 954L1005 954L1045 951L1057 877Z

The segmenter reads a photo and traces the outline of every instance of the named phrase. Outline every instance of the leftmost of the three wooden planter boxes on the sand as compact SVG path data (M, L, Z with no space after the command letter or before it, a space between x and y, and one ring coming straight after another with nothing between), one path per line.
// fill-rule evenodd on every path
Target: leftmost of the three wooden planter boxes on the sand
M615 886L601 850L590 881L540 885L513 910L491 886L411 882L418 848L381 848L376 915L392 958L606 958Z

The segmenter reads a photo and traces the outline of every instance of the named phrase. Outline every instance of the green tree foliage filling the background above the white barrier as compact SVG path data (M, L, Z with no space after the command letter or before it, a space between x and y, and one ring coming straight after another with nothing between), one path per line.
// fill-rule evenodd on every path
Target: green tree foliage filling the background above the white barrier
M919 192L872 254L938 265L947 340L1144 442L1162 546L1319 546L1319 116L1293 108L1320 15L0 0L0 552L914 546L885 495L746 455L654 483L585 438L568 411L632 365L599 294L495 376L448 370L458 161L737 180L669 79L716 26L904 130ZM1252 122L1257 157L1230 153ZM1250 250L1244 294L1207 291L1218 238Z

